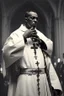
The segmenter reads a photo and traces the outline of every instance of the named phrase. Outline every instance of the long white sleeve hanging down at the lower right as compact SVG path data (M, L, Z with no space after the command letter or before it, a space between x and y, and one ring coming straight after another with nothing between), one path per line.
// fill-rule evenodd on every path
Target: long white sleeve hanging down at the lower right
M48 59L47 62L49 64L49 76L50 76L51 85L54 89L59 89L62 91L60 80L58 78L56 70L54 69L51 59L50 58L47 59Z

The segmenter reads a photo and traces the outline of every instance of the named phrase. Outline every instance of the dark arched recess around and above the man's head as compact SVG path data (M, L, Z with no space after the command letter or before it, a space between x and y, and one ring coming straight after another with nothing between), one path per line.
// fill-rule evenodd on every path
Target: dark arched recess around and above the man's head
M37 4L35 4L32 1L31 2L27 1L22 6L19 6L18 9L15 10L15 12L11 18L11 32L13 30L15 30L16 28L18 28L20 26L20 24L24 22L24 14L27 10L33 10L33 11L36 11L38 13L39 22L40 22L38 24L39 25L38 29L40 29L41 31L45 30L45 23L47 23L47 20L45 17L46 14L44 14L44 12L40 8L40 6L38 6ZM15 24L17 24L17 25L15 25ZM44 27L42 28L42 26L44 26Z

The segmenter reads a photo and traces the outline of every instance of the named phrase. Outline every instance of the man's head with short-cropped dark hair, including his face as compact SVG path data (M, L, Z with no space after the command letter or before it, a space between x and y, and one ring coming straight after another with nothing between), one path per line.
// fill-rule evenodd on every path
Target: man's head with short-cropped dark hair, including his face
M36 12L29 11L25 14L25 22L27 28L35 28L38 22L38 15Z

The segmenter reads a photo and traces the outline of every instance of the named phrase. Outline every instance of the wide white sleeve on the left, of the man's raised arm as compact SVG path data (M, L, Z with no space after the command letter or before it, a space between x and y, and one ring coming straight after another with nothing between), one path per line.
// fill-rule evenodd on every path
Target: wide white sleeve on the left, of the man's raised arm
M22 57L24 46L23 33L20 30L16 30L7 38L2 49L6 68Z

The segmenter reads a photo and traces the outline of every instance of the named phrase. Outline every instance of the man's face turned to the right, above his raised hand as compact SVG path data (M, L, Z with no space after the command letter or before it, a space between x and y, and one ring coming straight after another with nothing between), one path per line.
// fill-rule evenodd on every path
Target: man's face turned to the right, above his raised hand
M38 22L38 15L35 12L29 12L29 16L27 17L27 25L29 28L35 28Z

